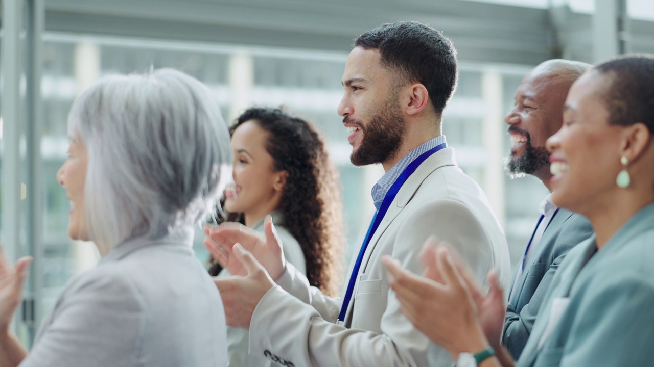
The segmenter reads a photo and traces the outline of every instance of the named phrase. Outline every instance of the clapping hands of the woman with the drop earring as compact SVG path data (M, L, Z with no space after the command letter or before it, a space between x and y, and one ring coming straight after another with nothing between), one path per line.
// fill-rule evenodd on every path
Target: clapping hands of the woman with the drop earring
M388 256L382 259L409 321L455 360L459 353L479 351L489 341L499 345L505 306L496 274L490 274L490 291L485 293L446 244L430 238L420 256L423 276L403 270Z

